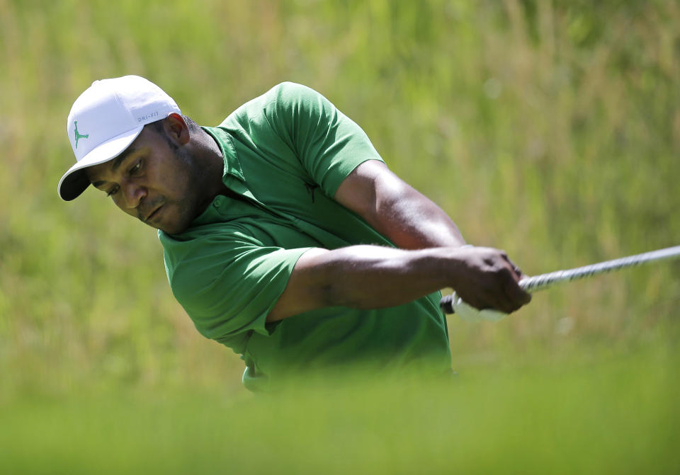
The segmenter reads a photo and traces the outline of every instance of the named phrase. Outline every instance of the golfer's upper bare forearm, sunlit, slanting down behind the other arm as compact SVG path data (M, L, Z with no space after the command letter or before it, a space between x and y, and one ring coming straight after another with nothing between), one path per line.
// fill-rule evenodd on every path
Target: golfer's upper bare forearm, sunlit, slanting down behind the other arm
M340 184L334 198L399 248L465 244L458 227L440 207L381 161L368 160L357 166Z

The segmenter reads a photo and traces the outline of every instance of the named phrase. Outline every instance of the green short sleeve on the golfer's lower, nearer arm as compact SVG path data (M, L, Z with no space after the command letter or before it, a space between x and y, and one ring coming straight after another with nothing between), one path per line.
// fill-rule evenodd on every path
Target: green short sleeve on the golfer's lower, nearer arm
M309 248L263 247L229 234L199 240L166 246L172 292L196 329L232 348L229 340L246 332L268 335L266 316Z

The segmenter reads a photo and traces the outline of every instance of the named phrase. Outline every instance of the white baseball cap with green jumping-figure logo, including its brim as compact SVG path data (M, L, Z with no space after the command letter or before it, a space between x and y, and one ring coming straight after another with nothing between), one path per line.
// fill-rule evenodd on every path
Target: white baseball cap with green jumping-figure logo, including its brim
M85 168L115 159L150 122L180 114L161 88L140 76L94 81L73 103L67 131L76 164L64 173L57 191L64 201L89 186Z

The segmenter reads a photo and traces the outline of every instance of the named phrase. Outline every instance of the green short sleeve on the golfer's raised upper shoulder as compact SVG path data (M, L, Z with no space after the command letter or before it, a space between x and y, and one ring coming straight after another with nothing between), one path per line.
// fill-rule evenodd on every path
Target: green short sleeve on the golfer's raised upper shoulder
M302 166L329 196L354 168L380 154L368 135L327 98L307 86L294 83L274 88L276 101L268 113L282 124Z

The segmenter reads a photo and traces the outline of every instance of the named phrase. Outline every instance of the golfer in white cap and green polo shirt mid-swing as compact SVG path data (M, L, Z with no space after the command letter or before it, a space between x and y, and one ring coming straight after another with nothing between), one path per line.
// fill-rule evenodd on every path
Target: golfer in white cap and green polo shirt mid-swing
M158 229L174 296L241 355L252 391L355 366L447 372L441 288L506 313L531 299L502 251L463 247L446 213L305 86L201 127L147 79L103 79L67 130L77 163L61 198L91 184Z

